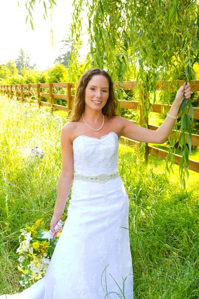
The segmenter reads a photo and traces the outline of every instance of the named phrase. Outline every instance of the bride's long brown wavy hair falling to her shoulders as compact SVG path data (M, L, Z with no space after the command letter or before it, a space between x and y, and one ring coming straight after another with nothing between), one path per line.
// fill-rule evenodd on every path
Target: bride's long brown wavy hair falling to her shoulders
M85 90L86 87L91 80L91 78L95 75L102 75L104 76L109 83L109 95L105 106L102 108L102 114L106 115L108 119L115 117L117 114L117 100L115 99L115 94L113 90L113 82L106 71L100 68L92 68L86 71L80 81L78 83L76 93L75 93L75 100L73 103L73 108L71 111L71 115L69 117L70 122L76 122L80 120L80 117L85 111Z

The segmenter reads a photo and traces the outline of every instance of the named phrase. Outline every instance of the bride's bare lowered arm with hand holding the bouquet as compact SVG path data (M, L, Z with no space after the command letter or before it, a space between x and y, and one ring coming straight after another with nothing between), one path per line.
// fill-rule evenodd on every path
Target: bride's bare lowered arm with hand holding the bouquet
M54 232L54 226L57 221L60 220L63 215L74 178L73 146L70 139L70 132L70 123L68 123L62 128L61 132L62 171L59 177L58 194L54 214L50 224L52 232Z

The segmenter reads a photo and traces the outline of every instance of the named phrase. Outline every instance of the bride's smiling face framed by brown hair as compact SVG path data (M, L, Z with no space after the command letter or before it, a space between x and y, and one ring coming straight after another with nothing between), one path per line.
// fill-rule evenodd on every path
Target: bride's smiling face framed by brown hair
M85 89L85 109L101 110L108 99L109 83L102 75L95 75Z

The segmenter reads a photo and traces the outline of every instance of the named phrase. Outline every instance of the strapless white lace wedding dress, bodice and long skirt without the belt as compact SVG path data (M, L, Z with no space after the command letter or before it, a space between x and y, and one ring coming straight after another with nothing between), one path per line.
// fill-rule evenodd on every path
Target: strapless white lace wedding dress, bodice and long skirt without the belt
M78 136L73 152L76 174L118 170L115 132L101 139ZM20 294L0 298L133 299L128 207L120 176L105 183L74 179L68 218L45 277Z

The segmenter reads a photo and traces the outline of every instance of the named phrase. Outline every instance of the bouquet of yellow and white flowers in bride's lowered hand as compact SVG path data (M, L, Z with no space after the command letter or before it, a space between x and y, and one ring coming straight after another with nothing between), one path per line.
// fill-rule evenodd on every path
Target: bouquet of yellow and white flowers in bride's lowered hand
M57 225L59 227L62 226L66 218L67 215L64 214ZM59 232L53 238L53 233L44 229L42 220L43 218L38 219L34 225L26 225L25 228L20 229L20 245L16 252L19 255L18 270L22 272L21 280L19 281L22 287L32 285L32 283L45 276L55 246L61 235L61 232Z

